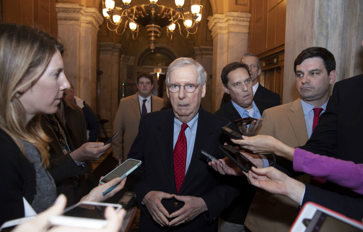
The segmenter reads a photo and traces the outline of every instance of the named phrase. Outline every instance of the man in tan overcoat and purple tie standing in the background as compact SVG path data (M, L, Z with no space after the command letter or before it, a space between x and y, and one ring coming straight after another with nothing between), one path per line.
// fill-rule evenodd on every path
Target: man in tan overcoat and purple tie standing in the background
M112 141L113 157L119 162L127 159L132 142L138 133L140 117L144 113L158 111L163 107L163 99L151 94L154 79L147 72L142 72L137 78L138 92L120 100L113 133L120 134Z

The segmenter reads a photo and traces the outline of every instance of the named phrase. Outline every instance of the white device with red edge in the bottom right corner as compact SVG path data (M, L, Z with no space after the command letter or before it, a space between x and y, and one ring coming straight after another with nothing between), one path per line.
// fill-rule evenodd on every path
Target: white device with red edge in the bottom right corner
M363 224L313 202L306 202L290 232L359 232Z

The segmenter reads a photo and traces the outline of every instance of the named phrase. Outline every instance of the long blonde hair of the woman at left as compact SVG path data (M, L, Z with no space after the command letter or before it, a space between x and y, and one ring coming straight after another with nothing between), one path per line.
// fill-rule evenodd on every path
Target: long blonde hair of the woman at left
M57 49L63 52L63 46L56 39L40 30L0 24L0 128L24 155L21 140L33 144L44 167L49 165L46 147L50 139L41 128L40 115L24 125L24 107L17 96L24 87L32 86L40 78Z

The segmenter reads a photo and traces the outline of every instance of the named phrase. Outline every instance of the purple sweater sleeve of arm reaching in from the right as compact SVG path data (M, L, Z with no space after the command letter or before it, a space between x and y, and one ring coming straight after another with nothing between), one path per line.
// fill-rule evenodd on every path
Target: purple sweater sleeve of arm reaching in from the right
M363 194L363 164L344 161L333 157L321 156L295 148L294 171L304 172L316 177L325 178L340 186Z

